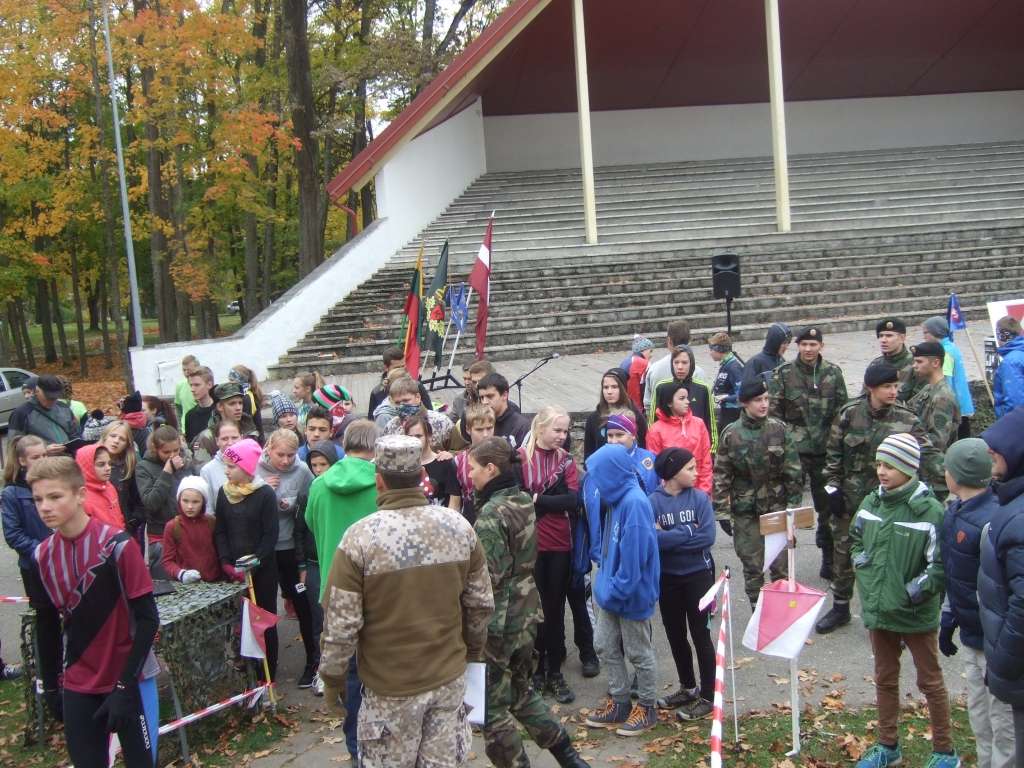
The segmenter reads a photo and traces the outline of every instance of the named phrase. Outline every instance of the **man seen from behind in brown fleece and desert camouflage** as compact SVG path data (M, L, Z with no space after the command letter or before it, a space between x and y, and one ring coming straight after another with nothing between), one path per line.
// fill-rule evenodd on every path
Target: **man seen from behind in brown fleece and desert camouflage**
M472 743L466 663L483 658L495 601L472 526L427 504L420 455L415 437L377 441L378 511L348 528L324 592L324 696L338 706L356 652L361 768L457 768Z

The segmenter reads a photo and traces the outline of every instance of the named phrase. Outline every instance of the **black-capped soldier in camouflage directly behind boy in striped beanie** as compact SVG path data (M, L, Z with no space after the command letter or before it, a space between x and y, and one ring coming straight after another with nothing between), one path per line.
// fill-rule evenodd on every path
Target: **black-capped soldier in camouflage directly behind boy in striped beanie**
M922 476L931 484L941 474L941 456L921 421L896 401L899 372L889 362L873 362L864 372L862 394L840 410L825 450L825 490L831 504L834 542L833 607L817 624L821 634L850 623L853 569L850 564L850 520L861 501L878 484L874 454L891 434L908 432L921 444Z

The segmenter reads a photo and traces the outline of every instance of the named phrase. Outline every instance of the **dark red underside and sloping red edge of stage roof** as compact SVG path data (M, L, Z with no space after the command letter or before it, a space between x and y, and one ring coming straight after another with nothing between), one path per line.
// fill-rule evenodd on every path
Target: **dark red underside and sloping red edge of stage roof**
M494 27L504 23L507 30L507 19L535 4L513 2L438 76L444 87L428 89L407 112L436 103L447 90L458 96L431 125L477 96L485 116L574 112L570 0L553 0L471 82L453 72L465 73L467 62L502 39L488 36L500 32ZM787 101L1024 89L1019 0L779 0L779 6ZM588 0L585 13L592 111L768 100L763 0ZM380 144L375 160L371 145L339 174L333 195L411 137L412 121L403 125L403 117L374 142Z

